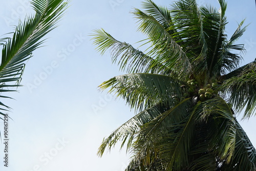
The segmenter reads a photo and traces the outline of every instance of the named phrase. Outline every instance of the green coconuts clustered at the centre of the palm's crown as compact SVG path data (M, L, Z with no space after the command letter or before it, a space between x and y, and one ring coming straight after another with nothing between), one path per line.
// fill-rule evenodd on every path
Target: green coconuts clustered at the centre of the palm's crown
M201 101L214 98L218 95L218 91L215 90L219 85L217 80L213 80L212 84L207 84L203 89L198 88L198 82L195 79L188 80L187 83L191 85L188 89L189 93L193 96L198 96Z

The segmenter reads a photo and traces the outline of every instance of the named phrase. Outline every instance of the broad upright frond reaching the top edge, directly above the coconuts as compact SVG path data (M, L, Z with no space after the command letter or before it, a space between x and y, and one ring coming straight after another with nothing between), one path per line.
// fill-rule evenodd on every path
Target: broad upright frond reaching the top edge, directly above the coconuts
M206 70L208 36L204 31L204 16L196 1L178 1L173 3L171 14L182 48L191 62L194 72Z

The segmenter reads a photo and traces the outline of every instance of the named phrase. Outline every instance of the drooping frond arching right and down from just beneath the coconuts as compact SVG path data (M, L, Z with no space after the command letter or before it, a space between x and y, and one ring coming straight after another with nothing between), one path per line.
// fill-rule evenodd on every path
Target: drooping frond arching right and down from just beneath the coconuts
M234 151L236 127L234 116L229 105L221 98L216 97L201 103L197 112L197 122L206 123L206 139L209 140L209 149L221 160L231 160ZM211 129L210 129L211 128Z

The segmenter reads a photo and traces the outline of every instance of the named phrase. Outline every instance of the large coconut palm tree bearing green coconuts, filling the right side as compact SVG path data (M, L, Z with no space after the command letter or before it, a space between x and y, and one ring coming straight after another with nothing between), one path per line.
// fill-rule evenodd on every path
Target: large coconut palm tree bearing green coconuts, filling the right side
M151 0L134 9L138 30L147 36L144 52L103 29L94 30L102 54L111 50L125 75L103 82L136 111L109 137L98 155L117 142L132 157L126 170L256 170L256 151L236 114L256 108L255 60L239 67L244 51L236 45L242 21L227 39L225 11L180 0L171 9ZM232 51L232 52L231 52Z

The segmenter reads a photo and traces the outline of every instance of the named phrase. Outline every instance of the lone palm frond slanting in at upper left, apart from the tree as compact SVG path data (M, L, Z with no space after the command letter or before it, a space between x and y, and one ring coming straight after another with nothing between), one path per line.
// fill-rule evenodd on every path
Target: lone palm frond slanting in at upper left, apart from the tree
M31 2L35 14L27 16L24 22L19 22L12 37L0 39L3 46L2 61L0 65L0 92L1 98L11 98L2 93L13 92L14 87L20 86L25 68L25 61L32 57L32 52L39 48L48 32L56 28L56 23L67 8L63 0L33 0ZM10 108L0 102L0 114ZM0 118L3 119L0 115Z

